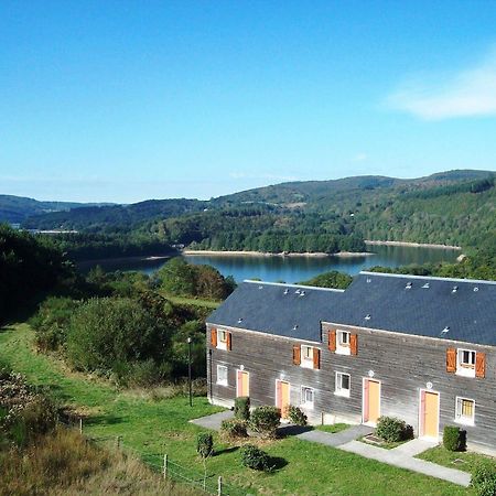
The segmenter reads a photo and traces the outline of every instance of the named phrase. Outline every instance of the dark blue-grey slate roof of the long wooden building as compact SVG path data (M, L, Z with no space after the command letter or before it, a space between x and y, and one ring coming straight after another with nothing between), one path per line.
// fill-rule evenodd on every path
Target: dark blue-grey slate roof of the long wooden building
M207 319L313 342L321 321L496 346L496 282L376 272L344 292L244 282Z

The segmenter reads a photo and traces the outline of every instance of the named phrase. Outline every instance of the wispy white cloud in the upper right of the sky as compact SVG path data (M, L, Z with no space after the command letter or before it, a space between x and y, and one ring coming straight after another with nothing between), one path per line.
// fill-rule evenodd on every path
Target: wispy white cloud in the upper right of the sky
M496 50L457 74L410 79L387 104L424 120L496 116Z

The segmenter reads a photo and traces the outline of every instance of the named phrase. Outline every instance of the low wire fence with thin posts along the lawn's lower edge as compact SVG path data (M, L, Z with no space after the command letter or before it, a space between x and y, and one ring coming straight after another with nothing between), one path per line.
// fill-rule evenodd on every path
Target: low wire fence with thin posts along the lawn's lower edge
M89 442L104 443L109 448L114 446L127 453L132 453L147 466L162 475L163 478L187 485L201 493L214 496L254 496L252 493L227 484L222 476L209 474L207 465L202 473L193 467L183 466L169 456L168 453L145 453L127 445L121 435L88 435L84 432L83 419L58 419L58 422L67 429L78 429L79 433ZM207 464L208 462L206 462Z

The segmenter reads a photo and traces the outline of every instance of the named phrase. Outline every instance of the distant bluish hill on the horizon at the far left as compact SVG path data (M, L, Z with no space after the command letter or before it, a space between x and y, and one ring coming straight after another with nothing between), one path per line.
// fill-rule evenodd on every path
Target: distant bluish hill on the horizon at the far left
M87 206L103 206L108 204L76 203L76 202L39 202L23 196L0 195L0 222L21 224L32 215L51 212L69 211Z

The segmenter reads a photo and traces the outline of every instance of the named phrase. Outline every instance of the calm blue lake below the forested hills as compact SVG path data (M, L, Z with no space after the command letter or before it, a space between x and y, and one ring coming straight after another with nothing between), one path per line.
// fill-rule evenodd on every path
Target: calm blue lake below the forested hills
M374 255L357 257L250 257L246 255L188 255L184 258L191 263L214 266L224 276L233 276L236 281L259 278L263 281L299 282L330 270L338 270L352 276L374 266L399 267L410 263L449 261L454 262L461 254L453 249L371 246ZM86 272L96 265L105 270L139 270L152 273L160 269L166 259L114 259L80 262Z

